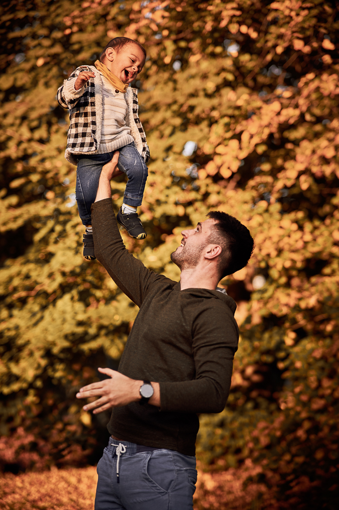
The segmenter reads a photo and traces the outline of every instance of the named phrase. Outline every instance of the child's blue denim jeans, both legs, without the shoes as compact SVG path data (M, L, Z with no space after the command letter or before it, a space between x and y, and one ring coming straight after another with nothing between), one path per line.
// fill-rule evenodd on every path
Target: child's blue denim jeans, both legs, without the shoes
M123 195L127 206L141 206L148 170L134 142L120 147L118 168L127 175ZM91 225L91 205L95 200L102 167L111 161L113 152L105 154L77 154L75 198L83 225Z

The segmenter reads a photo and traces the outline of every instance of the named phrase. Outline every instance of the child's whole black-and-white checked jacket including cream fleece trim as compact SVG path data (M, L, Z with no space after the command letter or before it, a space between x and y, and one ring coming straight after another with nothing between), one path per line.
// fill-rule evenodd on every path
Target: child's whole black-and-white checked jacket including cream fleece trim
M60 106L69 109L69 129L65 158L76 165L74 154L95 154L101 139L102 124L102 81L101 75L94 66L80 66L72 72L68 80L76 78L82 71L95 72L95 78L85 84L84 88L70 94L64 81L57 92L57 100ZM134 138L136 148L145 163L149 160L149 148L146 135L138 117L138 90L128 87L125 92L128 107L127 125L131 127L131 135Z

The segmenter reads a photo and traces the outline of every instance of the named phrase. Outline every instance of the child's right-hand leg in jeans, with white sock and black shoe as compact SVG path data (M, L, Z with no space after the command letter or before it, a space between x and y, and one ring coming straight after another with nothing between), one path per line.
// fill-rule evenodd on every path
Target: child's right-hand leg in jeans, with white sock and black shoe
M126 228L130 236L145 239L146 232L137 215L137 207L142 203L148 175L147 166L134 142L120 148L119 152L118 168L127 175L128 181L117 221Z

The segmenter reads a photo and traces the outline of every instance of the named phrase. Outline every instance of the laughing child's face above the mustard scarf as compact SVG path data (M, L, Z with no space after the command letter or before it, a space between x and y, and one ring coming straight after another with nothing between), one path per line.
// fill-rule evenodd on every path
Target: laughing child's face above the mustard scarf
M106 50L105 65L123 83L131 83L145 64L145 55L137 44L126 44L119 52Z

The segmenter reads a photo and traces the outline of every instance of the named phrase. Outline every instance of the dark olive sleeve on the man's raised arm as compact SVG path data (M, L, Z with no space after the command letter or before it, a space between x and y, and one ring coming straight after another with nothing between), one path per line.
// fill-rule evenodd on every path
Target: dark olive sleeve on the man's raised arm
M94 252L119 289L140 307L150 286L165 276L147 269L129 253L122 242L115 219L112 199L106 198L92 205Z

